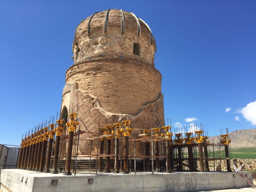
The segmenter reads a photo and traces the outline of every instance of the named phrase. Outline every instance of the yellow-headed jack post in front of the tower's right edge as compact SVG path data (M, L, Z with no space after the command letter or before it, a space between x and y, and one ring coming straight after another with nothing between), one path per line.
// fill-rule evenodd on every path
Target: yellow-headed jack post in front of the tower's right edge
M163 133L161 134L165 137L166 142L166 173L171 173L171 154L170 154L170 140L173 133L171 133L171 126L163 126Z

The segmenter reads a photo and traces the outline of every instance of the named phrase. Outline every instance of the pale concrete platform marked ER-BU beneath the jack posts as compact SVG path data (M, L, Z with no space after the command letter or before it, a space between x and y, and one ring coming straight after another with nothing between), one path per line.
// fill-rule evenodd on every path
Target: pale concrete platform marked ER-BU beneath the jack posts
M251 178L251 173L248 172ZM20 169L1 170L3 192L84 192L84 191L202 191L249 187L238 173L144 173L111 174L90 173L66 176L59 174L24 171Z

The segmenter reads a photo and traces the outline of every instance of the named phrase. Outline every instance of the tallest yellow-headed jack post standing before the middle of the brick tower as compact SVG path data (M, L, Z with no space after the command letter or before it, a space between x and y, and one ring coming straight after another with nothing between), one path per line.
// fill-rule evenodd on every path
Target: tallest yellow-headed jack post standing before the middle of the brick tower
M129 125L131 125L131 120L125 120L122 122L122 128L120 131L123 133L123 136L125 138L125 146L123 149L123 172L122 174L128 174L128 146L129 146L129 137L131 136L131 131L133 131L133 128L130 128Z

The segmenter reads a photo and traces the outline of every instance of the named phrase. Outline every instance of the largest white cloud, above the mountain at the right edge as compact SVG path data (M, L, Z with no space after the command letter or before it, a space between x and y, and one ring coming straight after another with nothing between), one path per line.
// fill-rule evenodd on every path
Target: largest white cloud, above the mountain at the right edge
M256 101L250 102L246 107L239 109L238 113L241 113L252 125L256 125Z

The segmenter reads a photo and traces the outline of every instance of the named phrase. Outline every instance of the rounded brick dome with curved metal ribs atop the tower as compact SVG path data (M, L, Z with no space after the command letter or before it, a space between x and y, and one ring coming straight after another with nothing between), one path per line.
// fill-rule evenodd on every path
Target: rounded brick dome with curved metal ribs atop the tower
M114 38L119 38L119 40L114 40ZM86 41L90 41L90 43L85 44ZM108 42L106 43L106 41ZM101 47L98 46L99 44ZM106 44L108 46L105 46ZM121 49L114 47L117 44ZM83 54L87 55L90 52L90 47L94 47L93 53L88 53L87 56L98 54L99 49L101 49L100 53L108 53L108 55L111 52L111 54L131 56L133 52L130 48L133 44L139 44L142 53L139 56L143 61L149 64L154 63L156 42L148 24L132 12L126 12L122 9L108 9L95 12L78 25L75 30L72 52L74 53L75 49L79 51L81 47L84 47L84 50L88 50L83 51ZM110 47L111 51L108 49ZM79 61L81 61L81 57L78 59Z

